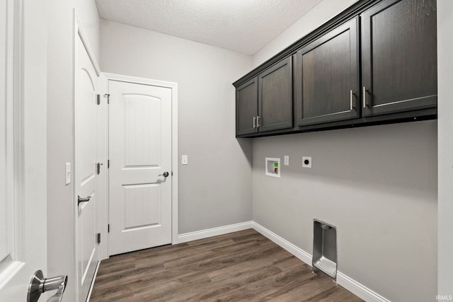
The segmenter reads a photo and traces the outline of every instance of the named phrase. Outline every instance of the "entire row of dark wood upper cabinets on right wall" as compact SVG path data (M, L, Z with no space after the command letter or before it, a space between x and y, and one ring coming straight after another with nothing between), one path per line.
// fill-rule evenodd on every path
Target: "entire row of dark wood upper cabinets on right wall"
M237 137L436 119L436 1L357 1L234 86Z

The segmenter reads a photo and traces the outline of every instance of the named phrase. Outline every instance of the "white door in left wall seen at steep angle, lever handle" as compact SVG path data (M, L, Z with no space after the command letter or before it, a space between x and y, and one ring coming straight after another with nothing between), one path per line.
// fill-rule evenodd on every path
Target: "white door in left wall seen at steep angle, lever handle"
M100 80L83 42L76 39L75 83L75 191L76 260L78 301L86 301L98 256L97 211L102 190L98 182L98 156L102 148L98 118L101 116L97 91Z

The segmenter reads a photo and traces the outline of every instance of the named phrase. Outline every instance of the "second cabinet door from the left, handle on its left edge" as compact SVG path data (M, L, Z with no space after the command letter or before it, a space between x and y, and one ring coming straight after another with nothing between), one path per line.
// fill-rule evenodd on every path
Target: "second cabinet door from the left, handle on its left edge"
M292 128L291 57L258 76L259 132Z

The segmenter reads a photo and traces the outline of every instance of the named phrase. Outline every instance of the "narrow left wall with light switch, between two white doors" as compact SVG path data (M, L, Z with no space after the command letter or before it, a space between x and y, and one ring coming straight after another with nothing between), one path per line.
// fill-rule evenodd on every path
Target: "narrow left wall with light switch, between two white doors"
M99 19L93 0L47 1L47 272L68 274L64 301L75 301L73 186L64 185L64 163L74 165L72 9L76 8L97 57Z

